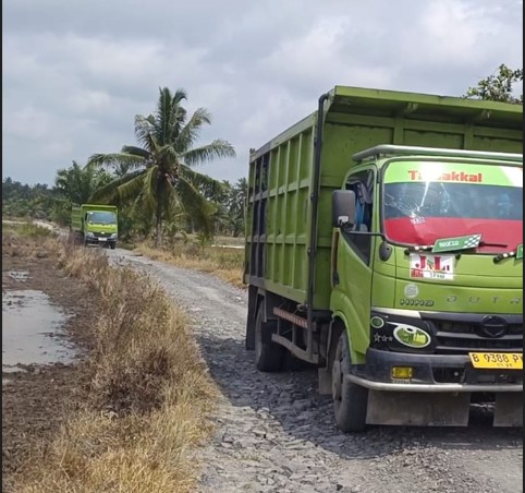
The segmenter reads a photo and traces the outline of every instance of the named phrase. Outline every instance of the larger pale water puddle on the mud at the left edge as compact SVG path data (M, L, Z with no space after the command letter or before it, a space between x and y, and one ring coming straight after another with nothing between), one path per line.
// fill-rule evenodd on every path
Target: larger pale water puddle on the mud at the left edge
M2 372L22 371L24 365L73 361L76 351L61 337L66 320L68 315L53 306L42 291L4 291Z

